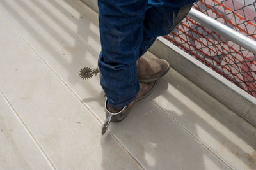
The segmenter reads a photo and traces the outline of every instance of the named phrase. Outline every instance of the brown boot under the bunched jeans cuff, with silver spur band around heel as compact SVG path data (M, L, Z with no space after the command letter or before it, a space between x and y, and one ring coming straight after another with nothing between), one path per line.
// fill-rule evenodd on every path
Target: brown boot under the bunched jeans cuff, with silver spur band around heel
M153 81L151 83L140 83L140 90L138 92L137 97L134 99L134 101L125 106L126 108L112 108L106 101L106 110L108 110L110 113L118 113L124 109L118 115L113 115L113 117L111 118L111 122L120 122L124 120L124 118L127 117L129 111L131 110L132 106L136 103L136 101L139 101L147 97L154 89L155 84L156 81ZM106 111L106 118L108 118L109 116L108 111Z

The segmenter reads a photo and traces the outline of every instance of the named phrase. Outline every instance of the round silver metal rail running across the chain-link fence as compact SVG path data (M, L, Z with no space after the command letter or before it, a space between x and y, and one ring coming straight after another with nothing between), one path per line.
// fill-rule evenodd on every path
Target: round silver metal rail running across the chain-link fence
M230 27L221 24L217 20L208 17L204 13L195 10L194 8L191 8L191 10L188 13L188 17L192 18L193 20L196 20L200 24L204 25L205 27L208 27L212 31L217 32L221 36L236 43L237 45L242 46L246 50L252 53L256 53L256 41L253 41L253 39L250 39L244 36L243 34L235 31L234 29L231 29Z

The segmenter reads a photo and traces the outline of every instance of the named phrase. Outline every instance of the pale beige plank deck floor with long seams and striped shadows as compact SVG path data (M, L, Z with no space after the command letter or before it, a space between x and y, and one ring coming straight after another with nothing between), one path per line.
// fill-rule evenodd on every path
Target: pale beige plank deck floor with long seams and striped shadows
M175 70L104 136L97 13L0 1L0 169L256 169L256 129ZM148 57L154 57L147 53Z

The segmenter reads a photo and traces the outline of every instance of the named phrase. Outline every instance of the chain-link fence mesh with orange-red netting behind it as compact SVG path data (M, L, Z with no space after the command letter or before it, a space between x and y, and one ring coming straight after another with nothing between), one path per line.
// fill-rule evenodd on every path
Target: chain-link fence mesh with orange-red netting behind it
M202 0L194 8L256 41L255 0ZM256 54L188 17L164 38L256 97Z

